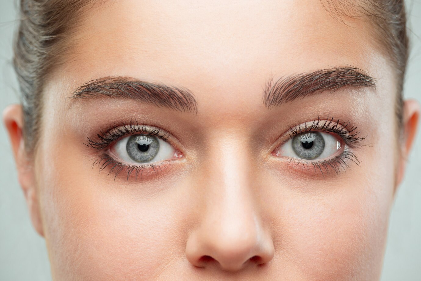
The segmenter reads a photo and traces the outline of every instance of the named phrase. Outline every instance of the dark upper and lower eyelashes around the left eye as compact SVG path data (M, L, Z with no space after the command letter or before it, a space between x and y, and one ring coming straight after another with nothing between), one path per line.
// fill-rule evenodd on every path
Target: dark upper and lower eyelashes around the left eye
M104 150L117 139L120 139L121 137L126 135L136 133L144 133L157 136L163 141L167 141L169 138L169 134L163 132L163 130L161 130L160 128L145 126L144 124L139 124L136 120L131 120L128 125L114 126L107 132L100 131L100 134L97 134L98 140L93 140L88 137L88 141L84 143L84 145L95 148L97 150ZM120 174L122 171L126 171L127 180L130 178L130 175L134 172L136 180L139 174L140 177L142 176L142 173L145 169L147 170L148 174L149 169L152 169L152 171L156 173L157 169L162 170L166 164L165 161L163 161L147 165L128 165L115 160L115 158L111 157L107 153L102 153L100 156L92 160L92 167L98 165L100 173L105 168L110 166L108 175L114 173L114 180L117 178L117 175Z

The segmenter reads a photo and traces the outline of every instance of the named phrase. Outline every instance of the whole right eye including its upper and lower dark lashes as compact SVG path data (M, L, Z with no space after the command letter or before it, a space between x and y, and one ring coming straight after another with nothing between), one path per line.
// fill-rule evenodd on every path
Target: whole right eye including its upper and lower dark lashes
M334 117L291 126L280 138L281 145L272 151L288 168L308 171L322 176L339 175L360 165L357 148L365 146L357 126L342 123Z

